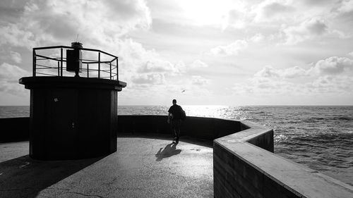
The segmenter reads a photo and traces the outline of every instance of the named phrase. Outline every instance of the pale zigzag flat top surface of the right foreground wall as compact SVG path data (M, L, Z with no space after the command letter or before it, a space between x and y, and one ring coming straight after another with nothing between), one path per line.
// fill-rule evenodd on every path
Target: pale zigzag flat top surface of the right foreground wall
M236 155L299 197L353 197L351 185L249 143L271 130L249 121L240 122L249 128L220 137L214 140L214 144Z

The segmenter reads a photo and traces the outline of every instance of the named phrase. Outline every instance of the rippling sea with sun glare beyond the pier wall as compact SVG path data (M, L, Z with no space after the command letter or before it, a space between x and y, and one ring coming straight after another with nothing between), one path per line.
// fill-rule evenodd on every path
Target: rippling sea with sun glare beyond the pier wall
M353 106L183 106L186 116L249 120L275 135L275 154L353 185ZM167 115L169 106L119 106L119 115ZM0 118L29 106L0 106Z

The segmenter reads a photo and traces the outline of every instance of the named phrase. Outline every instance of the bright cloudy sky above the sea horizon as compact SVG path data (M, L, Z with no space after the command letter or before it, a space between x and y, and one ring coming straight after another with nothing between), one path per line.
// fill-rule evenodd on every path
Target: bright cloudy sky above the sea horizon
M119 105L353 105L349 0L1 0L0 35L0 105L77 37L119 56Z

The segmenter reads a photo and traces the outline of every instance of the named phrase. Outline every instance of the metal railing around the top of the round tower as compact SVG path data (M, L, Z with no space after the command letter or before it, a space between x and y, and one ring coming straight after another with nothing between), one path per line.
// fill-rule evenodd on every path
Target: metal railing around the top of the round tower
M72 76L66 71L66 53L64 49L78 49L68 46L36 47L33 48L32 76ZM85 55L85 51L91 51L91 56L96 58L81 58L82 69L80 77L84 78L105 78L119 80L118 57L99 49L79 48ZM52 51L51 55L43 55L45 51ZM54 51L54 52L53 52ZM42 54L40 54L42 52ZM104 60L101 56L105 56Z

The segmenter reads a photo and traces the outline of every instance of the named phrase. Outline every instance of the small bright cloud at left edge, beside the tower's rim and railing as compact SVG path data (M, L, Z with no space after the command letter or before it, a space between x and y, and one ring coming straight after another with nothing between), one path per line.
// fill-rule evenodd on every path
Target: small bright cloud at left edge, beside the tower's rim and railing
M25 94L25 87L20 85L18 80L25 76L30 76L30 73L18 66L2 63L0 65L0 91L22 96Z

